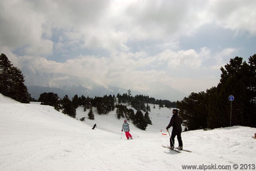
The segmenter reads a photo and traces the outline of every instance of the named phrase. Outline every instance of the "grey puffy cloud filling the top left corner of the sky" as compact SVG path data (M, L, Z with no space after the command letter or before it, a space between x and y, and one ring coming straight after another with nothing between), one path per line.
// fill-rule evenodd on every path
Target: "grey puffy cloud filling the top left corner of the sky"
M13 50L28 47L27 53L37 54L39 48L49 45L50 40L42 40L44 15L33 10L32 4L25 0L10 0L2 1L1 7L1 46L7 45Z

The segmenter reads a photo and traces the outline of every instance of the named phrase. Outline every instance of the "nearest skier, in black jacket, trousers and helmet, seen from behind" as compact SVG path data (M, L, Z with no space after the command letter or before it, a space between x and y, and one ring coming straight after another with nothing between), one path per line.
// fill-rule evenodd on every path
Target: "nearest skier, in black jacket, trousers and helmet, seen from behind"
M172 110L172 118L170 120L169 125L166 127L166 129L168 130L170 127L172 127L172 135L170 137L170 149L174 149L174 138L177 135L177 139L179 142L179 146L177 149L183 149L183 144L182 144L182 139L181 139L181 132L182 132L182 128L181 128L181 124L182 124L182 118L180 117L180 115L178 115L178 109L173 109Z

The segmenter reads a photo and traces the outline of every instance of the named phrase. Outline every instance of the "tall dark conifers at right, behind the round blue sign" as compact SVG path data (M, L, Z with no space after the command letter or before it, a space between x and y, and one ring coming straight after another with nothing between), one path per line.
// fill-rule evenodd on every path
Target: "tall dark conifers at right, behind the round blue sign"
M248 64L240 57L230 59L220 70L216 87L177 101L188 130L228 127L230 114L232 126L256 127L256 54L250 56ZM234 96L232 109L229 95Z

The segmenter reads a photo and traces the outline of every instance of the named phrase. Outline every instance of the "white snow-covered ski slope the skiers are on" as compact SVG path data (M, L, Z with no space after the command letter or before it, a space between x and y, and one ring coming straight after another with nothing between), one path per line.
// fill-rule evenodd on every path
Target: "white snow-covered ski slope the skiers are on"
M192 153L176 153L161 147L169 145L169 134L162 135L160 129L166 133L172 109L150 108L153 125L142 131L128 121L134 139L126 140L124 119L117 119L116 111L98 115L94 108L95 120L80 121L89 110L79 107L74 119L51 106L22 104L0 94L0 170L180 171L182 165L202 164L234 170L234 163L256 164L256 128L183 132L184 149Z

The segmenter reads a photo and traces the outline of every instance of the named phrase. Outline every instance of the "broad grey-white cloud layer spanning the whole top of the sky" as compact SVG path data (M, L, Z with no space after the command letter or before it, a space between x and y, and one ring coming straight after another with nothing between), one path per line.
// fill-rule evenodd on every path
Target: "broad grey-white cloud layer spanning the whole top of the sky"
M30 55L38 54L39 48L52 41L44 38L51 39L54 32L61 31L68 38L65 43L83 42L80 48L103 48L116 53L128 52L127 43L131 41L174 44L180 36L190 36L205 24L217 23L224 28L255 34L255 4L254 0L179 3L174 0L154 3L6 0L1 3L4 33L1 35L5 36L0 37L0 45L8 44L14 49L27 47ZM44 43L46 45L42 45ZM50 51L42 53L52 54Z

